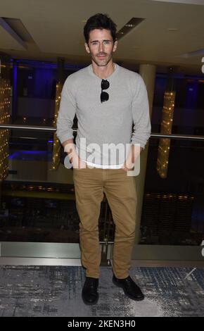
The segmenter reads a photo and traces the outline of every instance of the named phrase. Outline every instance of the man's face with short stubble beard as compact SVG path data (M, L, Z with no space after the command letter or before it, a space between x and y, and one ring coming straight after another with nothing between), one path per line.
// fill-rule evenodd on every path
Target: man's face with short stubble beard
M85 44L87 53L91 54L92 61L98 66L105 66L113 57L117 42L113 44L110 30L95 29L89 33L89 43Z

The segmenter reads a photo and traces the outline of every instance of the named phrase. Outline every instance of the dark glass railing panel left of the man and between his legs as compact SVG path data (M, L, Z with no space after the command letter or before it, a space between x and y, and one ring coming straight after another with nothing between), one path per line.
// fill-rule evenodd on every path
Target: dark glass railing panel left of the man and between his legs
M53 170L53 132L10 130L8 175L1 183L1 242L79 242L72 169ZM100 240L107 239L110 208L101 203ZM112 234L113 235L113 234Z

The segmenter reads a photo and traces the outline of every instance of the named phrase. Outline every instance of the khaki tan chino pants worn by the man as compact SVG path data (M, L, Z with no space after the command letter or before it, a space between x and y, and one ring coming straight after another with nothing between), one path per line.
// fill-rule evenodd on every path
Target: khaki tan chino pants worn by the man
M113 273L126 278L131 265L136 225L136 183L123 169L82 168L73 170L82 266L87 277L99 277L101 249L98 218L103 192L115 223Z

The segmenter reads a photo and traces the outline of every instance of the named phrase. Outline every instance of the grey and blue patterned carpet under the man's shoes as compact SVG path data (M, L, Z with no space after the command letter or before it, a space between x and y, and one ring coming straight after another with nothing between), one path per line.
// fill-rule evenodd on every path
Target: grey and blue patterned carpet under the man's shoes
M81 299L84 270L65 266L0 266L0 316L204 316L204 268L132 268L146 298L135 302L101 268L100 299Z

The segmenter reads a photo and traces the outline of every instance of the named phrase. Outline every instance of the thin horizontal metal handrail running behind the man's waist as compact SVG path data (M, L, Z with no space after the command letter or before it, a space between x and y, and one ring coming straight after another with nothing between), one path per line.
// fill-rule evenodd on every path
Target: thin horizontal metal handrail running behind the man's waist
M0 130L1 129L36 130L36 131L56 132L56 127L37 126L37 125L0 124ZM77 132L77 129L73 129L73 132ZM175 135L175 134L164 135L162 133L151 133L151 137L204 141L204 136L197 136L197 135Z

